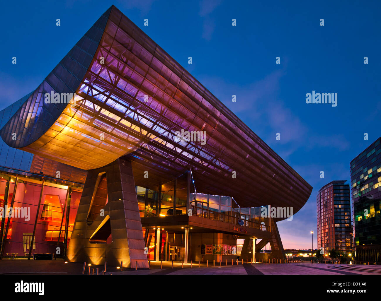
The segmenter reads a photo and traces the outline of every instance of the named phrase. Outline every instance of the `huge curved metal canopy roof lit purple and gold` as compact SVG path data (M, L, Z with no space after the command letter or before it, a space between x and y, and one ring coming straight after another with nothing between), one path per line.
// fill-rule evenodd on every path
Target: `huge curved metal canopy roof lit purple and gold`
M52 91L75 93L76 105L46 104L45 93ZM205 131L206 143L178 140L176 131L182 129ZM242 207L289 206L295 214L312 191L115 6L32 92L0 135L11 147L81 169L129 156L142 186L170 181L191 168L197 190L233 196Z

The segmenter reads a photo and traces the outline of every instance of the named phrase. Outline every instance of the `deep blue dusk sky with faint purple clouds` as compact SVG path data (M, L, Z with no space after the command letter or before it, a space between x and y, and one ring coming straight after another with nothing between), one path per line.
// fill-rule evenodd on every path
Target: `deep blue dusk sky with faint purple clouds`
M293 221L278 223L283 247L311 248L317 191L349 180L349 162L380 136L381 4L331 2L3 2L0 110L37 88L114 4L314 187ZM338 93L338 106L306 104L312 90Z

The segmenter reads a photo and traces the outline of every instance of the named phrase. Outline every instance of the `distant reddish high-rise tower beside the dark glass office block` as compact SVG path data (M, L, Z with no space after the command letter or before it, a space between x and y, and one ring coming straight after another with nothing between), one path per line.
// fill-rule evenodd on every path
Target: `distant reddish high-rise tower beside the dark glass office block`
M317 247L352 253L351 199L346 181L332 181L316 196Z

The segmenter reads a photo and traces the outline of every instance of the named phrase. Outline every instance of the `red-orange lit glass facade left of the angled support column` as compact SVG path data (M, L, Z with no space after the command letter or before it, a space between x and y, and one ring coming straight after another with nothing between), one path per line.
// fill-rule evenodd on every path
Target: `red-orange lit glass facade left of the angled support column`
M6 238L2 244L4 258L11 254L21 258L29 255L34 226L32 256L35 253L63 256L64 240L65 237L66 241L70 240L81 194L81 184L63 185L54 178L42 180L26 172L0 171L0 233ZM60 247L59 254L57 247Z

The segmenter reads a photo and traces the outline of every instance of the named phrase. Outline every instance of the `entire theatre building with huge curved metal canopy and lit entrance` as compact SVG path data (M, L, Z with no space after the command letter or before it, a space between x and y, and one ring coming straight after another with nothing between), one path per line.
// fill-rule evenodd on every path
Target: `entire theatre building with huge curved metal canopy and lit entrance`
M250 261L261 239L257 258L270 244L262 254L285 259L287 217L260 207L295 214L312 190L115 6L0 118L0 198L30 208L2 218L2 256L59 247L71 262L147 268L230 261L237 239Z

